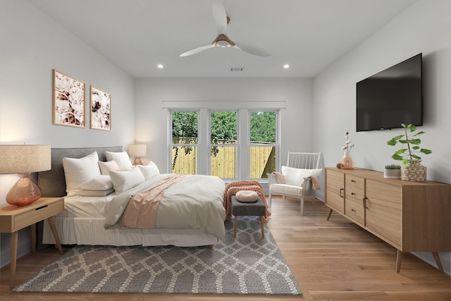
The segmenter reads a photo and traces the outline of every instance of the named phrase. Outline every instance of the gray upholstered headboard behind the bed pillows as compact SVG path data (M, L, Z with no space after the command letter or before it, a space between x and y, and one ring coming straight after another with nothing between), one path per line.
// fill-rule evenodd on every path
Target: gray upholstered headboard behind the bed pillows
M63 158L82 158L92 152L97 152L99 161L106 161L106 151L122 152L122 147L51 149L51 170L37 173L37 185L42 190L42 197L63 197L67 195Z

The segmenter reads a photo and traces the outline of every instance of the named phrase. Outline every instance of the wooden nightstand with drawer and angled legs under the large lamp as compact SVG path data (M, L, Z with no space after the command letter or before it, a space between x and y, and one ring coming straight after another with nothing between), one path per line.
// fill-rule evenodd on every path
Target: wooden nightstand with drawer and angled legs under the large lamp
M54 233L58 250L63 254L63 248L61 247L53 219L53 216L63 211L63 209L64 199L62 197L41 197L36 202L24 207L12 205L0 207L0 233L11 233L11 289L14 288L14 280L16 278L18 231L31 226L32 252L35 254L36 223L47 219L51 231Z

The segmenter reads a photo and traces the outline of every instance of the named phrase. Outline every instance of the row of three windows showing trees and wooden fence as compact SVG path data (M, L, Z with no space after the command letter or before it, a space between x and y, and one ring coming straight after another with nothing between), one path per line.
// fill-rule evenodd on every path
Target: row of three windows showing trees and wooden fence
M276 170L278 110L171 111L172 172L224 179Z

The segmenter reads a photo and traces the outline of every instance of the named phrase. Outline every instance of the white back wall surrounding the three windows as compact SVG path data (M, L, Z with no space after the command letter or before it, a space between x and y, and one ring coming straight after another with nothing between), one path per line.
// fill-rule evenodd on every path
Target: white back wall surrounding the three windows
M135 80L135 133L147 144L147 161L167 166L168 105L197 103L221 109L226 106L265 107L278 102L281 110L281 160L288 151L316 151L311 116L312 81L304 79L140 79ZM232 104L230 104L232 103ZM166 172L170 172L166 170Z

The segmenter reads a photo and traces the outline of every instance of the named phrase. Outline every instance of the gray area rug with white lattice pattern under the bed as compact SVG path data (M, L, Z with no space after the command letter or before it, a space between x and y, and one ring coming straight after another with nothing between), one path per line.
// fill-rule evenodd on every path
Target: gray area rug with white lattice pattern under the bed
M77 246L15 292L301 295L258 216L240 216L237 238L208 247Z

